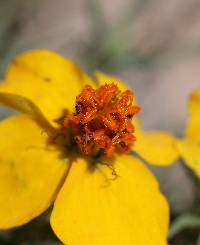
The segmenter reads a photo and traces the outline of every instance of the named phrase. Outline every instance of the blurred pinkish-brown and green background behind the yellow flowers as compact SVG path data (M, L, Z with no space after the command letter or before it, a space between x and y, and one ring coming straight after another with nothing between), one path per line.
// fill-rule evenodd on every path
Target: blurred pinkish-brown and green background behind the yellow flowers
M9 60L48 48L119 76L137 94L143 127L183 134L187 98L200 87L199 0L0 0L0 77ZM0 118L9 112L0 108ZM200 244L199 182L177 162L154 168L171 205L171 245ZM199 241L198 241L199 239ZM60 244L48 212L0 232L3 244Z

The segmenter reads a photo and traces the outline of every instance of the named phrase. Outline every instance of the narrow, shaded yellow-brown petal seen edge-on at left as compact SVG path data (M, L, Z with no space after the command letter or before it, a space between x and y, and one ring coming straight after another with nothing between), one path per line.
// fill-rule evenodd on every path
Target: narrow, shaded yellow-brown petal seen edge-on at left
M0 92L0 104L11 107L32 117L48 133L54 133L54 128L44 117L40 109L29 99L10 93Z

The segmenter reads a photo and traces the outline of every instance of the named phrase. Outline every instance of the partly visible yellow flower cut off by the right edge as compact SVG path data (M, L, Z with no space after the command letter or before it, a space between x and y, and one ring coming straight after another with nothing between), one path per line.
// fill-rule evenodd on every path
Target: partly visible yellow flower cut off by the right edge
M178 149L187 166L200 177L200 89L189 98L189 119Z

